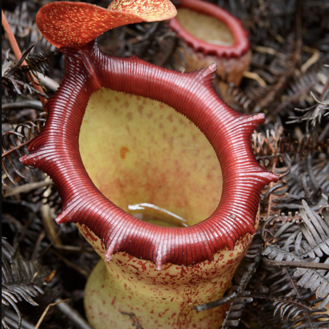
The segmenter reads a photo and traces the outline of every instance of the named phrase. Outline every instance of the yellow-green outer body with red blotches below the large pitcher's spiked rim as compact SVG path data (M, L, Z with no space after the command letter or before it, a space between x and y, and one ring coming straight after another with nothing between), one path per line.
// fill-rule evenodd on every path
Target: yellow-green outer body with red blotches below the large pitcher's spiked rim
M258 218L257 218L258 223ZM78 225L93 248L105 258L104 244L84 225ZM192 307L221 298L252 240L247 234L234 250L224 248L213 262L194 266L165 264L156 271L150 261L127 253L101 260L90 274L85 289L85 310L95 328L125 328L133 312L145 328L212 329L224 319L227 305L197 312Z

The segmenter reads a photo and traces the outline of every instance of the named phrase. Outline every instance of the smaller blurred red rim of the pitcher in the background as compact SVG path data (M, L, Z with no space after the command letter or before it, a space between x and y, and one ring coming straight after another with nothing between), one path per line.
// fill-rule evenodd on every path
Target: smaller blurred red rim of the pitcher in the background
M240 20L226 10L215 4L201 0L180 0L177 8L189 8L199 13L213 16L227 25L234 37L232 46L219 46L195 38L189 34L179 23L176 17L170 19L169 26L177 32L178 37L182 38L195 51L200 51L204 55L216 55L218 57L240 57L245 54L249 48L248 32L244 30ZM197 22L195 22L197 24Z

